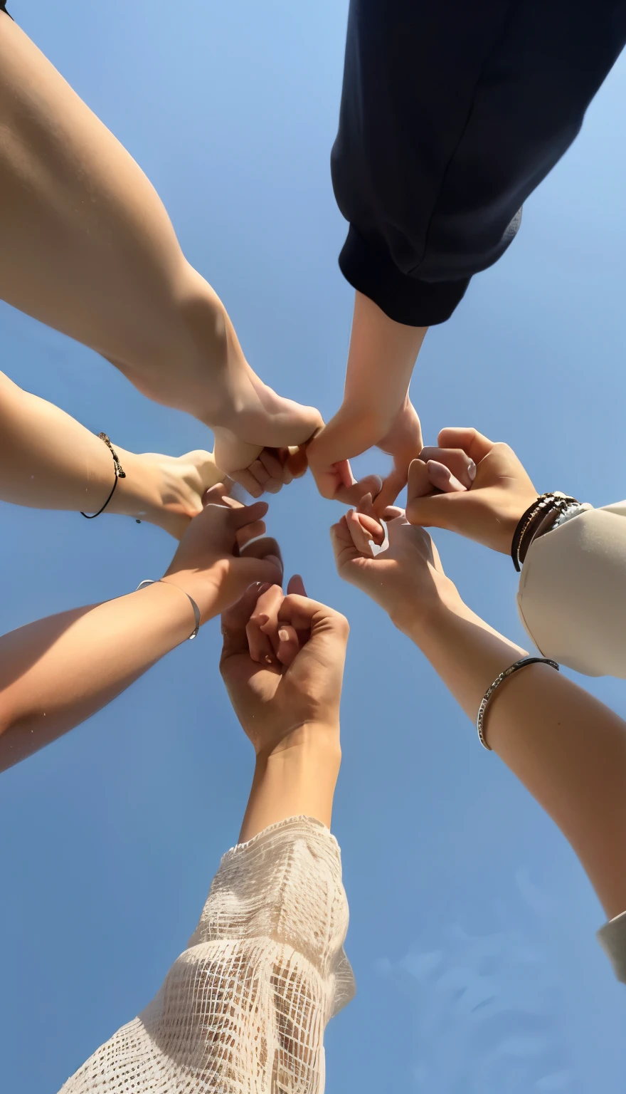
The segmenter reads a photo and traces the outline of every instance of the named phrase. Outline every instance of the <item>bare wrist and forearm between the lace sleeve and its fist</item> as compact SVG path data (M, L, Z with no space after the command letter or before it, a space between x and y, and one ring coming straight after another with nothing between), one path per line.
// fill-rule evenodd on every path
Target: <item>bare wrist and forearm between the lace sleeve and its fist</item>
M330 828L340 765L339 726L300 726L270 755L259 754L239 842L292 816Z

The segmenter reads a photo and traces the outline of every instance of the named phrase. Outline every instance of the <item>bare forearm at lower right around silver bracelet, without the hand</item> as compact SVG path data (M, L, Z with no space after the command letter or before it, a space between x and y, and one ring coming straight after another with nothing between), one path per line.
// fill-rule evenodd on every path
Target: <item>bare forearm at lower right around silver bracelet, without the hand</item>
M412 637L475 721L489 684L524 655L462 602ZM610 918L626 909L626 724L547 665L515 673L485 718L489 746L578 854Z

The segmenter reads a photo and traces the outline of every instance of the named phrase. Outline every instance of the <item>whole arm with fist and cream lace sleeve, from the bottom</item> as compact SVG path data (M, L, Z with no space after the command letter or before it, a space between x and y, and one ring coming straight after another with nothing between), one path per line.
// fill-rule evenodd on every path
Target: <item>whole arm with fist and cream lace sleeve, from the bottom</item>
M161 991L63 1094L91 1094L103 1081L106 1090L114 1079L119 1094L147 1094L155 1078L164 1090L185 1082L231 1094L323 1092L323 1031L354 994L341 858L326 825L347 627L302 595L302 583L291 587L300 594L257 584L223 617L222 674L257 755L240 842L223 857ZM277 630L293 627L293 639L294 625L288 667L251 659L261 626L284 654Z

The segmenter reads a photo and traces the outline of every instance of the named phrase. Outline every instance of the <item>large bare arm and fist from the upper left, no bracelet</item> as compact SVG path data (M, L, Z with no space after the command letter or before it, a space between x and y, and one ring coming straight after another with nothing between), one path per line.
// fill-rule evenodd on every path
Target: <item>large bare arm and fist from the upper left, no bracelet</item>
M274 450L321 428L318 410L255 374L149 179L3 12L0 238L0 298L210 426L217 466L255 496L259 476L283 474ZM351 486L345 464L342 475Z

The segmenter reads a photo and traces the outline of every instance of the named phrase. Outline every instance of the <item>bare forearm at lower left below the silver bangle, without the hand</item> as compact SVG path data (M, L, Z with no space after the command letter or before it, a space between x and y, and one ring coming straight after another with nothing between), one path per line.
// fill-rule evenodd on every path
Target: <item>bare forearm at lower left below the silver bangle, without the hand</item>
M90 718L192 630L188 597L158 583L4 635L0 770Z

